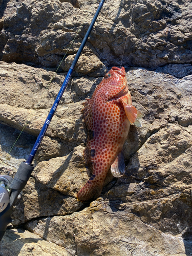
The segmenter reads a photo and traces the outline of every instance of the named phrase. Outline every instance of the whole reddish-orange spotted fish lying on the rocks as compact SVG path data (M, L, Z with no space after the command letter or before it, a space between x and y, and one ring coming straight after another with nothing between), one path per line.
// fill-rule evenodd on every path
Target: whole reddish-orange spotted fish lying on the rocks
M143 113L132 105L125 69L113 67L105 74L91 99L82 110L88 133L84 159L90 179L77 193L77 199L88 202L99 197L111 166L114 177L125 173L122 147L130 124L141 126Z

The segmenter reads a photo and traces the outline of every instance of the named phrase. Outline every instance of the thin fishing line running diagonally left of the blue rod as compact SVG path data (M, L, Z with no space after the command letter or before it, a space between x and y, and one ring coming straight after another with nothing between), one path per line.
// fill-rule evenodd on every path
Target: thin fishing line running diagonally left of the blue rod
M96 0L95 0L95 2L94 2L93 4L95 4L95 3L96 3ZM89 13L91 13L91 12L89 12ZM88 13L86 13L86 16L88 16ZM89 16L88 16L88 17L89 17ZM50 82L48 83L48 86L45 88L46 90L50 89L51 83L52 83L53 79L56 77L57 71L58 71L58 69L60 68L62 61L65 59L65 57L66 57L68 51L71 49L71 47L72 47L72 45L73 45L73 43L74 43L74 41L75 41L75 39L76 39L76 37L77 37L79 31L81 30L82 26L83 26L83 24L81 24L81 25L80 25L80 28L77 30L75 37L73 38L73 40L72 40L72 42L71 42L69 48L67 49L67 52L66 52L65 55L62 57L62 59L61 59L59 65L58 65L56 71L54 72L54 75L51 77ZM42 99L42 97L43 97L43 95L40 96L39 101L37 102L37 106L38 106L38 104L40 103L40 100ZM34 110L37 109L37 106L36 106L36 108L34 108ZM28 117L28 119L30 119L32 115L33 115L33 114L31 113L31 115ZM28 122L29 122L29 120L27 120L26 123L24 124L24 127L23 127L22 131L20 132L20 134L18 135L17 139L15 140L15 142L14 142L13 146L11 147L11 150L9 151L9 153L7 153L7 156L5 157L5 160L3 160L3 159L0 158L0 161L2 161L3 163L5 163L5 164L7 164L7 165L10 166L10 164L6 163L5 161L6 161L6 160L9 160L8 157L9 157L11 151L13 150L13 147L15 146L15 144L16 144L17 140L19 139L20 135L23 133L25 127L26 127L27 124L28 124Z

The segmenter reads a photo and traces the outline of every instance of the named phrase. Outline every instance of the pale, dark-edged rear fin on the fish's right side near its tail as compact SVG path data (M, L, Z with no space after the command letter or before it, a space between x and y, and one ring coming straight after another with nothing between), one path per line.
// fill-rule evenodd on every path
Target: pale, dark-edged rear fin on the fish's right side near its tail
M111 173L114 177L121 177L125 173L125 163L122 151L111 165Z

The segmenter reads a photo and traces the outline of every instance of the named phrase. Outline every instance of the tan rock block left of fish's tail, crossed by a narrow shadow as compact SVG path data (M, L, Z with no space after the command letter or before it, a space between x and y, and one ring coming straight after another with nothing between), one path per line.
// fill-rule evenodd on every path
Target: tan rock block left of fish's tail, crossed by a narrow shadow
M68 156L40 162L34 170L34 177L41 184L76 198L78 190L87 179L83 150L84 147L77 146Z

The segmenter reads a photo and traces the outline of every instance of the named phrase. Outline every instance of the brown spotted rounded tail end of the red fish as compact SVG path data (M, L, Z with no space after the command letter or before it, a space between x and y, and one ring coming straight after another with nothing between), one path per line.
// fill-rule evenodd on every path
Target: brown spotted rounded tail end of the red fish
M81 202L89 202L97 199L102 191L103 182L98 185L95 180L95 175L92 175L88 182L77 193L77 200Z

